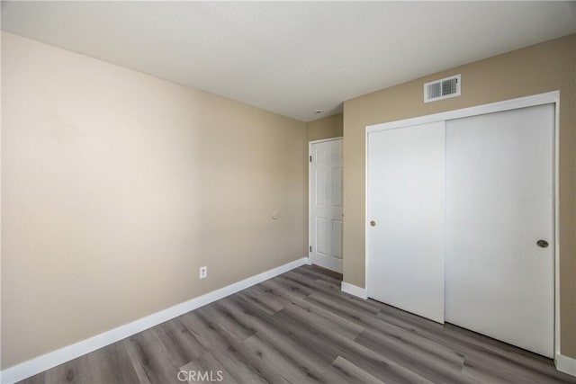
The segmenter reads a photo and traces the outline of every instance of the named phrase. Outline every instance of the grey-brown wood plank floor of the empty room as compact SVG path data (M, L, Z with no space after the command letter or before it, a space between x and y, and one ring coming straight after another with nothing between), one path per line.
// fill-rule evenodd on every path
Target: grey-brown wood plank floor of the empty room
M576 383L554 363L302 266L25 383Z

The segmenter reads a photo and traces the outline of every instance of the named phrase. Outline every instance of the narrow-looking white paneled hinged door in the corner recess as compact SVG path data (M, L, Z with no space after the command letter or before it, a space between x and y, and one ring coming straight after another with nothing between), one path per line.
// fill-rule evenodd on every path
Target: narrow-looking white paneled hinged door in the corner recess
M342 272L342 139L311 143L311 262Z

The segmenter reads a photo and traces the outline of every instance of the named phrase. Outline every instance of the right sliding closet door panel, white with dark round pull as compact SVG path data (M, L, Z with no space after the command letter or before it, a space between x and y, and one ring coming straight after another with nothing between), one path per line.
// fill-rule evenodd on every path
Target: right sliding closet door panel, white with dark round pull
M446 121L446 321L548 357L553 133L553 104Z

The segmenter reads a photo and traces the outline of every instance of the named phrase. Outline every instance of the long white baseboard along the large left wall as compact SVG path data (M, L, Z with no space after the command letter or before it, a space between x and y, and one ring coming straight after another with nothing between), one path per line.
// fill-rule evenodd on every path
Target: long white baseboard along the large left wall
M16 381L24 380L42 371L56 367L59 364L76 359L86 353L91 353L106 345L116 343L126 337L138 334L151 326L157 326L171 318L184 315L184 313L190 312L193 309L200 308L213 301L225 298L239 290L245 290L258 282L271 279L281 273L293 270L294 268L307 263L308 260L308 257L302 257L302 259L294 260L291 263L286 263L269 271L259 273L256 276L249 277L243 281L235 282L227 287L220 288L220 290L213 290L198 298L190 299L184 303L175 305L174 307L166 308L147 317L142 317L124 326L119 326L110 331L104 332L103 334L95 335L94 337L90 337L89 339L85 339L76 344L68 345L27 362L14 365L14 367L0 371L0 382L14 383Z

